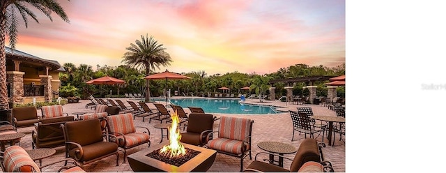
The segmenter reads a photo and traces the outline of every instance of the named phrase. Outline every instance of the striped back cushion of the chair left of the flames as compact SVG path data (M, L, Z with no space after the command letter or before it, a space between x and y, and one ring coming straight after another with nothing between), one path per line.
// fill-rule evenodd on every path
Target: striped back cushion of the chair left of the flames
M136 132L131 113L107 116L107 123L109 126L109 133L128 134Z

